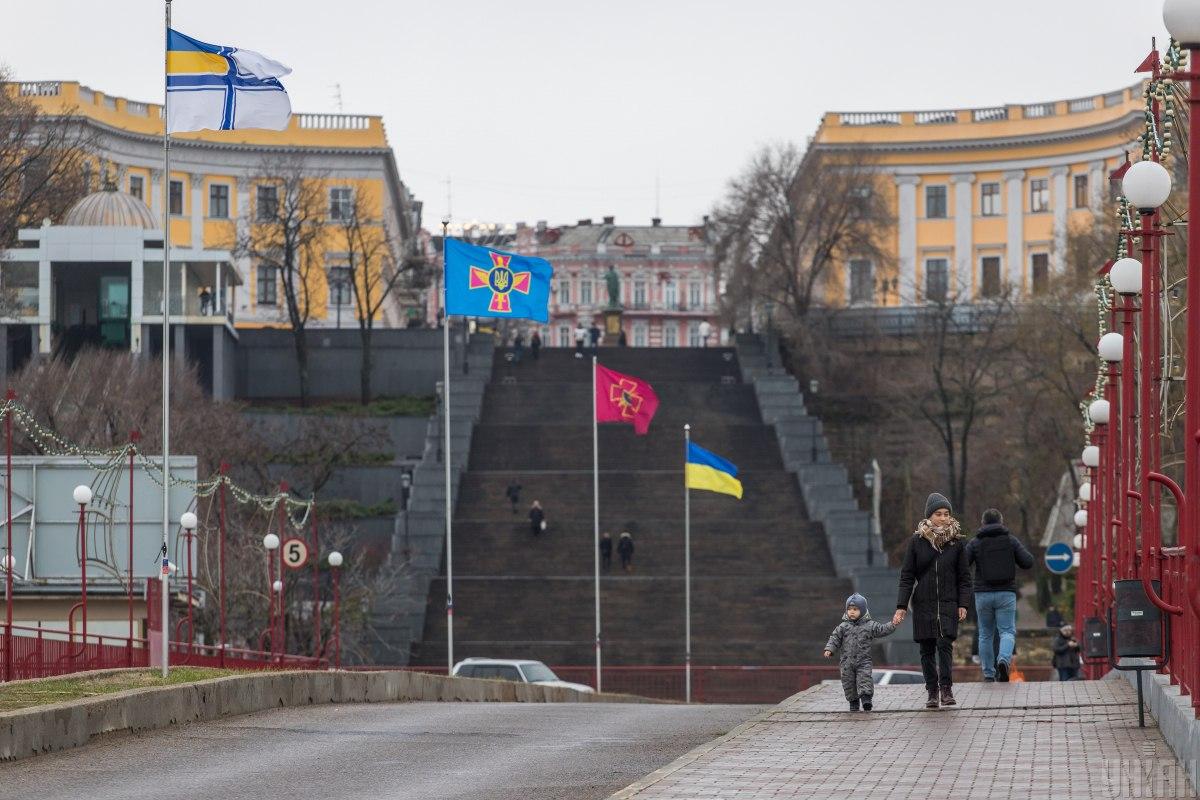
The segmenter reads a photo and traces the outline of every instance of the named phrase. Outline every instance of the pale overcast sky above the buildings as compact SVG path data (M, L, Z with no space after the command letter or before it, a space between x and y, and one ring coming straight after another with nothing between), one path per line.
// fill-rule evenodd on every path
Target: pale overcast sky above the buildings
M157 0L4 0L0 62L162 102ZM1160 0L175 0L293 68L298 112L382 114L425 225L690 223L826 110L1058 100L1134 82ZM337 89L341 88L341 108Z

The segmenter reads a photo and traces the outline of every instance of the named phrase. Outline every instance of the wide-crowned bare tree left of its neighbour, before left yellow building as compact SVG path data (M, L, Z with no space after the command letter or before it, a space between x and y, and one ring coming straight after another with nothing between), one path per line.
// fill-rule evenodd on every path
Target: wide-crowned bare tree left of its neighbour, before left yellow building
M250 258L257 269L266 267L278 273L296 354L300 404L306 405L306 327L314 307L313 287L324 281L329 225L326 181L293 156L265 160L251 180L260 192L256 193L245 218L238 224L233 249L239 257Z

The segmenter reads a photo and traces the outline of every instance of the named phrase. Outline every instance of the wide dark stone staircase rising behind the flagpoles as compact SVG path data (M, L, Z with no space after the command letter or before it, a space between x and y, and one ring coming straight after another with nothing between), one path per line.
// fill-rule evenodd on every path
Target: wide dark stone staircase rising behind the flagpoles
M588 664L593 644L590 361L497 351L455 511L455 657ZM636 542L634 572L601 578L607 664L678 664L684 654L683 426L742 470L745 499L692 492L692 651L700 664L812 663L841 616L839 576L754 385L730 349L600 350L653 384L650 433L600 428L600 527ZM520 483L514 515L504 489ZM548 530L529 533L533 500ZM816 499L816 498L814 498ZM614 559L616 560L616 559ZM444 560L428 583L410 663L444 664Z

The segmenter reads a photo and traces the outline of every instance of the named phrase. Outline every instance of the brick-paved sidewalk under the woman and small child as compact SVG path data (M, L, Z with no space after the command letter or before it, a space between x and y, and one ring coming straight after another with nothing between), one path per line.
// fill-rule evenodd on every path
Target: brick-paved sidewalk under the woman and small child
M839 685L796 694L612 800L734 798L1195 796L1123 680L960 684L924 709L923 686L881 686L852 714Z

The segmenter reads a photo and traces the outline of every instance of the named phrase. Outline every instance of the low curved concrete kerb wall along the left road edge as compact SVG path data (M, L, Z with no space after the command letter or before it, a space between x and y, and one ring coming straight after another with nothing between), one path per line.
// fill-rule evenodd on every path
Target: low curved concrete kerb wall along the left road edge
M24 681L19 681L24 682ZM154 730L293 705L396 703L654 703L625 694L590 694L559 686L446 678L416 672L277 672L234 675L162 688L0 714L0 760L88 744L114 732Z

